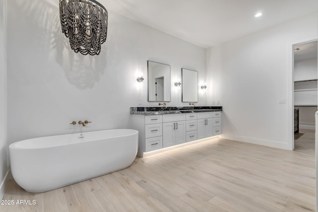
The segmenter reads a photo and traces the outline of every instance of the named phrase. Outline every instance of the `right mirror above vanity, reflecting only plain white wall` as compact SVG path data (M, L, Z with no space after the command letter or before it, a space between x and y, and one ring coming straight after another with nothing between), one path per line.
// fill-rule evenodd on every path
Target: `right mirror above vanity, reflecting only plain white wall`
M198 102L198 71L181 69L182 102Z

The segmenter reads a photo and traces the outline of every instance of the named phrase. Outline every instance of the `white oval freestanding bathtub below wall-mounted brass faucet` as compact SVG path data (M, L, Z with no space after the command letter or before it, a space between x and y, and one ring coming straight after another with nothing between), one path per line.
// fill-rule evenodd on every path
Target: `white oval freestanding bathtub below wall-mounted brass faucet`
M105 130L17 141L9 145L12 176L29 192L44 192L130 166L138 131Z

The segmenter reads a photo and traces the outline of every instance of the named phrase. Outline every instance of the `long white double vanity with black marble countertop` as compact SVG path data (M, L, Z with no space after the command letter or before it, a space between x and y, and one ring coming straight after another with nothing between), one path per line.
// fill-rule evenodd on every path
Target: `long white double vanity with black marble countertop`
M131 129L139 131L138 156L221 134L222 107L132 107Z

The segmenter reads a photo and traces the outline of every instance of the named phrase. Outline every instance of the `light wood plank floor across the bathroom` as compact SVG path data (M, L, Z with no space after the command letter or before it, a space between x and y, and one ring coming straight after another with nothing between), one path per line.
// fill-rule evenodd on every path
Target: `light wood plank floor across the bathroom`
M137 158L127 169L44 193L11 180L1 212L315 211L315 134L281 150L214 139Z

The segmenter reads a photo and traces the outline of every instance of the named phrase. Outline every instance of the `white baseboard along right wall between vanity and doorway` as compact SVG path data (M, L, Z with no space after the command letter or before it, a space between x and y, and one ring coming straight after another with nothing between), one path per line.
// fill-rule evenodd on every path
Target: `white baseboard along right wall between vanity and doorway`
M255 139L255 138L249 138L249 137L243 137L243 136L232 136L232 135L225 135L225 134L220 135L219 138L292 150L290 147L288 147L287 143L282 143L277 141L268 141L268 140L262 140L262 139Z

